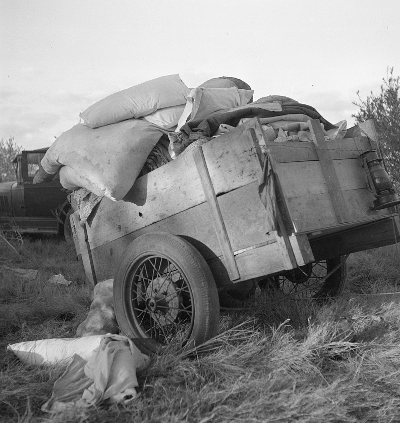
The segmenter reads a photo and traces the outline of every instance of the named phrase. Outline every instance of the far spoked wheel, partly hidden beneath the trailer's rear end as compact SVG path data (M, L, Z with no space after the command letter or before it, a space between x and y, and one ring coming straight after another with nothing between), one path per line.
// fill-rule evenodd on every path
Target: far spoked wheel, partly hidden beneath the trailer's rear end
M346 283L346 262L343 257L322 260L298 267L276 277L276 284L294 298L316 298L322 302L341 294ZM336 266L337 269L328 277Z

